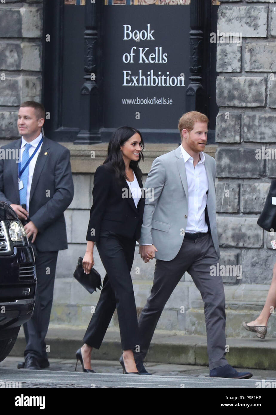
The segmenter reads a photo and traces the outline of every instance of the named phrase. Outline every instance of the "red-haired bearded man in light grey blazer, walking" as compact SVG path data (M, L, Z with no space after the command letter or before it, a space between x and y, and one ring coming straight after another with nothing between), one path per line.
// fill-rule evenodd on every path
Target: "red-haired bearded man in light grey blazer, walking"
M146 199L139 252L148 262L156 258L154 282L139 318L140 352L137 369L147 374L142 361L161 312L187 271L204 301L210 377L250 378L237 372L225 358L225 295L221 276L211 275L220 249L215 213L215 159L203 153L208 118L200 112L184 114L178 123L181 145L157 157L145 188Z

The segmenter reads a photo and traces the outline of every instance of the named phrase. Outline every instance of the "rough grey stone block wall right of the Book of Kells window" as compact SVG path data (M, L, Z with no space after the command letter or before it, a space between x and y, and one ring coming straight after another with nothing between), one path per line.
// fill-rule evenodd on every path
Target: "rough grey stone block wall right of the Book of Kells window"
M276 236L256 223L276 178L276 2L221 0L217 29L242 37L217 44L219 242L222 254L239 253L241 286L261 286L270 284L276 262L270 243ZM249 299L239 300L244 310L257 310Z

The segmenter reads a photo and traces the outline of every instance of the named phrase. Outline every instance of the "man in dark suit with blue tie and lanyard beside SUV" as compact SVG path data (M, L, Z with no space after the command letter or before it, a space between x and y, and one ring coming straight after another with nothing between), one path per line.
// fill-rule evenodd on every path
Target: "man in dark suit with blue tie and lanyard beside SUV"
M25 361L18 367L49 366L45 337L53 301L58 251L67 249L64 211L73 199L70 151L43 137L45 109L34 101L22 103L17 127L20 139L3 146L19 152L16 159L0 160L0 200L22 220L34 247L37 295L32 318L24 324Z

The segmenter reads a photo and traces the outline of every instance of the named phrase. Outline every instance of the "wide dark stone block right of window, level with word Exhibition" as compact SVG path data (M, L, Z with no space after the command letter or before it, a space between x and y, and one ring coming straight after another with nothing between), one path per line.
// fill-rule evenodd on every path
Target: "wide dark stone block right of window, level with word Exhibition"
M219 107L264 107L266 79L261 76L218 76Z

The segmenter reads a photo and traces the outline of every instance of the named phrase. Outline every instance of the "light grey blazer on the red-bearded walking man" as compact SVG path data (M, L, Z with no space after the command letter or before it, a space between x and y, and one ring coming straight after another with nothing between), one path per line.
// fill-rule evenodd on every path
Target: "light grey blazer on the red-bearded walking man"
M207 211L210 231L220 257L215 211L215 159L206 153L204 155L209 182ZM154 189L154 197L145 200L139 244L154 244L158 249L155 257L171 261L181 248L188 217L188 183L180 146L154 160L145 188Z

